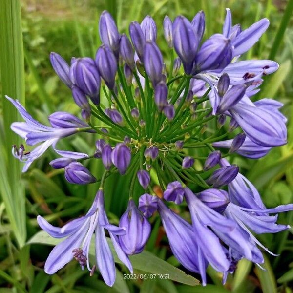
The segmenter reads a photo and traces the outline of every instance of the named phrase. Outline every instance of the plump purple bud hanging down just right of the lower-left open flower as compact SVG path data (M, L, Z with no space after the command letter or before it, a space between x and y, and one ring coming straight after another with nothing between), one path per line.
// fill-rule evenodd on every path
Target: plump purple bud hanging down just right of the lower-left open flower
M125 213L121 216L119 227L126 230L119 236L119 244L126 254L136 254L143 251L149 238L151 226L146 217L136 207L133 199L128 202Z

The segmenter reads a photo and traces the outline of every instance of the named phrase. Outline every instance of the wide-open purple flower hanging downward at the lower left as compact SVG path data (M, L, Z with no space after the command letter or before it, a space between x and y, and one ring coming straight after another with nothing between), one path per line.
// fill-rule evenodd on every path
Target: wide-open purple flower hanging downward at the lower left
M53 274L63 268L75 258L82 269L86 266L91 274L95 265L89 264L89 246L95 232L96 264L108 286L113 286L116 278L116 269L112 252L106 240L105 229L108 230L118 258L126 265L130 272L132 266L128 256L118 242L117 235L125 234L125 230L109 223L104 207L104 193L99 189L95 200L85 216L70 221L62 228L54 227L44 218L38 216L39 226L54 238L67 237L57 244L49 254L45 263L45 272Z

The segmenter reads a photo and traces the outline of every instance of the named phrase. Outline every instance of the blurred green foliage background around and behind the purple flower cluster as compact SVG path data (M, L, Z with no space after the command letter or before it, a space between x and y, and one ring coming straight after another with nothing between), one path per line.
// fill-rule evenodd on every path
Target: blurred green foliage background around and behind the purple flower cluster
M292 2L292 0L290 1ZM34 117L47 123L48 114L54 110L78 113L70 91L58 79L50 62L49 53L55 51L70 62L72 56L93 57L100 44L98 19L104 9L116 15L120 32L128 34L130 21L142 21L151 15L158 27L158 45L167 53L162 22L167 14L171 19L183 14L192 19L199 10L206 13L207 29L204 38L221 32L225 8L232 11L233 23L246 28L254 21L267 17L271 25L261 40L243 56L267 59L278 31L288 1L286 0L23 0L22 32L25 58L26 107ZM280 42L277 43L275 61L279 70L266 77L262 91L254 99L275 98L284 103L283 113L288 117L288 144L273 149L265 158L257 161L231 157L258 188L268 207L293 202L293 26L292 19ZM4 93L3 93L4 94ZM18 98L18 97L13 97ZM1 128L1 136L3 129ZM92 152L94 139L83 134L74 139L65 139L60 147ZM23 174L26 187L27 239L38 230L36 216L45 216L52 224L63 225L80 216L91 205L98 184L89 186L71 185L63 179L62 170L52 170L49 161L56 158L47 151L30 170ZM11 159L12 160L12 159ZM197 162L201 164L202 162ZM91 161L86 166L97 178L102 175L101 162ZM126 209L129 180L112 175L106 181L105 206L111 223L117 224ZM196 191L198 187L193 187ZM137 198L143 190L136 185ZM137 200L137 198L135 200ZM186 207L173 206L174 210L188 219ZM0 292L147 292L147 293L227 293L227 292L286 292L291 293L293 284L293 237L292 228L279 234L260 235L259 240L271 251L267 254L262 271L246 260L241 260L236 273L229 275L227 284L221 285L221 275L208 269L209 284L201 286L182 285L171 280L126 280L126 269L117 265L117 280L108 288L98 274L89 277L76 262L69 263L57 274L43 272L44 261L51 250L49 246L31 245L21 250L17 247L3 202L0 203ZM160 219L155 214L150 222L152 234L146 250L187 272L172 256ZM293 224L293 212L280 214L279 223ZM140 271L138 271L140 272ZM194 277L196 274L187 272Z

